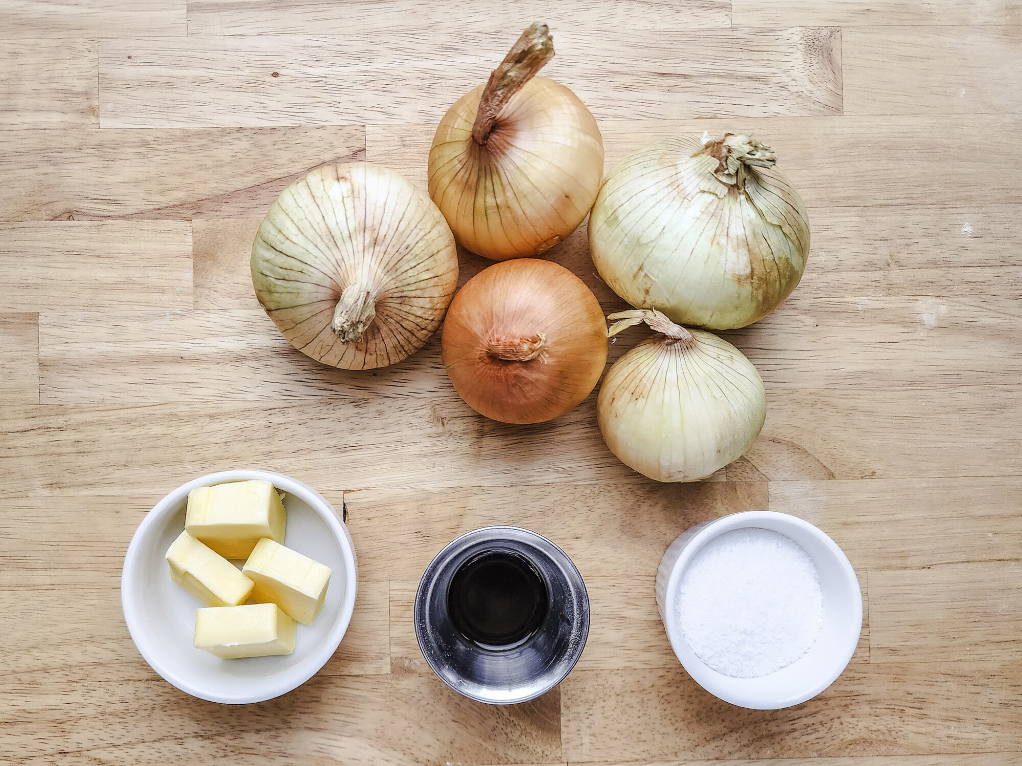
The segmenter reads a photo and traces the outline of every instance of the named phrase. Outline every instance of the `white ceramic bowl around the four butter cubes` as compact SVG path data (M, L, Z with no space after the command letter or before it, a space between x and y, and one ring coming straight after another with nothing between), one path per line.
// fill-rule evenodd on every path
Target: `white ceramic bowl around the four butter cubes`
M185 528L188 492L207 484L264 479L284 492L284 544L333 570L316 622L298 625L294 651L284 657L222 660L195 649L195 610L202 605L171 581L167 548ZM326 498L296 479L269 471L223 471L184 484L156 504L128 546L121 604L132 640L153 670L182 691L242 705L284 695L309 680L336 651L355 609L355 545Z

